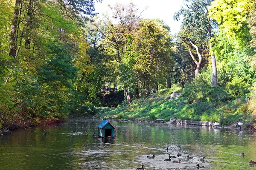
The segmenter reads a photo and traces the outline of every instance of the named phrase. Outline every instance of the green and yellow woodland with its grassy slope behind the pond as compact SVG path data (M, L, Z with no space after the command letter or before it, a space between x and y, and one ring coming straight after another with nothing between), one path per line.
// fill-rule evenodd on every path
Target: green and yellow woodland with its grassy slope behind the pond
M103 15L96 2L0 0L0 127L98 113L256 122L255 1L184 0L177 34L135 2Z

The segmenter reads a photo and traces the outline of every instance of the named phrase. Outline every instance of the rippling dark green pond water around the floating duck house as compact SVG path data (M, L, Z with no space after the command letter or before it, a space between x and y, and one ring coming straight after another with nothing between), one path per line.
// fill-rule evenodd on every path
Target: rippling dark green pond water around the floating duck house
M0 136L1 170L256 170L256 134L248 131L153 123L114 122L114 139L93 138L100 120L74 119L61 125L16 130ZM45 132L49 134L43 135ZM32 132L36 130L36 132ZM83 134L71 134L69 131ZM87 136L88 132L88 136ZM142 144L140 146L139 144ZM178 147L181 145L181 149ZM163 161L169 153L181 163ZM244 152L246 156L239 154ZM155 159L147 156L155 155ZM186 159L186 156L193 159Z

